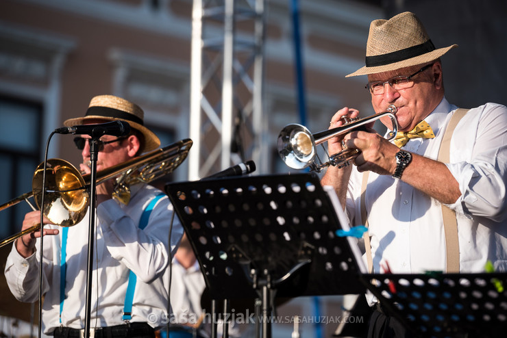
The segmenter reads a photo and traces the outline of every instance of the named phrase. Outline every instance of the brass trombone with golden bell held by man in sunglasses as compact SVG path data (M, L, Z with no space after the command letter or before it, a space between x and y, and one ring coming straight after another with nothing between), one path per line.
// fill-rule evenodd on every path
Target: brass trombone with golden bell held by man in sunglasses
M150 183L169 174L186 159L193 142L181 140L169 146L158 148L150 153L97 172L97 184L108 179L116 179L113 198L123 204L129 203L131 185ZM32 192L18 196L8 203L0 205L0 211L25 200L35 209L28 199L33 196L38 209L51 222L60 226L73 226L86 216L89 205L87 185L90 185L90 174L82 175L75 166L64 159L48 159L46 162L46 189L42 188L44 162L36 168L32 178ZM42 194L45 193L45 205L41 208ZM36 224L29 229L16 233L0 242L0 248L13 242L18 237L40 229Z

